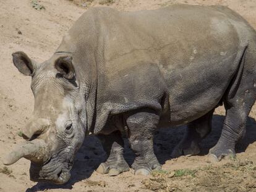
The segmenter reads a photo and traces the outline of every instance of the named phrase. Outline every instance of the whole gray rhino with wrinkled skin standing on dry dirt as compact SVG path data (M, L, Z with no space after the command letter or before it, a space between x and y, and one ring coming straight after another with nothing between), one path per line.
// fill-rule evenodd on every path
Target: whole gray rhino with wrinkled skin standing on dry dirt
M48 61L38 65L23 52L13 59L20 72L32 76L35 110L23 131L30 141L7 156L6 164L30 159L34 181L67 182L89 131L108 154L98 172L129 170L124 132L135 152L135 174L147 175L161 168L153 152L156 128L187 124L173 156L198 154L215 107L224 103L223 131L210 149L220 160L235 154L256 98L256 33L221 6L93 8Z

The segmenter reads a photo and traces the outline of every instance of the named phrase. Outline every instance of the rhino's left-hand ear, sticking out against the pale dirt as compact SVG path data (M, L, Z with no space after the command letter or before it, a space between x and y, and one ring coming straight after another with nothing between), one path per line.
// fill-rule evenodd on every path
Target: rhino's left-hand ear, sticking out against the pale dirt
M12 53L12 61L20 73L32 76L36 64L27 56L27 54L25 54L25 52L17 51Z

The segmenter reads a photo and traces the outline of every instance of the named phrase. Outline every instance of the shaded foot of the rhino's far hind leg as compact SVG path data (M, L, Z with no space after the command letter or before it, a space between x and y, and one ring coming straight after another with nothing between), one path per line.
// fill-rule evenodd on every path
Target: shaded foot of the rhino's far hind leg
M195 156L200 153L198 143L193 141L191 143L181 142L173 149L171 157L176 158L179 156Z

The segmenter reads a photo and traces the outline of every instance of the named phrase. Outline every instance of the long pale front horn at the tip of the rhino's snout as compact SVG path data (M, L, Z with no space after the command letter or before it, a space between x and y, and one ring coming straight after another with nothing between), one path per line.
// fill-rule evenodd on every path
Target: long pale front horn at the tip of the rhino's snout
M6 156L4 165L14 164L22 157L35 163L46 161L49 157L49 151L47 150L45 141L36 139L20 144Z

